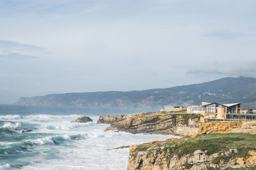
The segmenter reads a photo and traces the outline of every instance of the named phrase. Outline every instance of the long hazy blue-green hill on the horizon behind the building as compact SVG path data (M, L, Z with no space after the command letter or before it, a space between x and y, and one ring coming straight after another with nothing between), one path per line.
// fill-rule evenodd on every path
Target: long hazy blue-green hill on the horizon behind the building
M15 104L160 109L163 105L189 106L201 104L202 101L242 103L243 108L256 108L256 78L227 77L193 85L129 92L83 92L21 97Z

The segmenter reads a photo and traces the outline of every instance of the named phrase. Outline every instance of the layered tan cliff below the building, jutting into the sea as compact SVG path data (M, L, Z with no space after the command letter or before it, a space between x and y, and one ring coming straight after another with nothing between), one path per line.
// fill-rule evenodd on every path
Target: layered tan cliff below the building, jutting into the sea
M111 124L106 130L149 134L177 134L192 136L198 132L201 115L172 113L134 113L131 115L105 115L98 124Z

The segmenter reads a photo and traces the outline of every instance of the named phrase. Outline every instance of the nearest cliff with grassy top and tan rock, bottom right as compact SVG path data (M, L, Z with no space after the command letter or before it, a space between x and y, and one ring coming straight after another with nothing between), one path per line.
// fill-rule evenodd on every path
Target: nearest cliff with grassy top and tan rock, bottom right
M207 134L130 146L128 170L244 168L256 165L256 136Z

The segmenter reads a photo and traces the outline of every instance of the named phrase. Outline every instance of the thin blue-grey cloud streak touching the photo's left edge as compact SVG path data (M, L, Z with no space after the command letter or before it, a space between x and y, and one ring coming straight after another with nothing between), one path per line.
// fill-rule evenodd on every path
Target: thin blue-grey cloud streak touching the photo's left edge
M0 50L2 52L12 51L30 51L30 52L44 52L44 48L35 45L18 43L9 40L0 40Z

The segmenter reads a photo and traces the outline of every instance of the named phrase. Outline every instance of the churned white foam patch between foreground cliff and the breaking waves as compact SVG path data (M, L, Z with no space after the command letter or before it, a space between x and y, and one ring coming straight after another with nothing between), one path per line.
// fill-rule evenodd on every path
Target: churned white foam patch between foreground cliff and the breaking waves
M62 159L44 160L22 169L126 169L129 149L107 150L118 146L147 143L175 136L154 134L129 134L127 132L104 131L107 126L91 126L79 129L87 138L74 141L72 148L60 148ZM77 131L70 130L70 133ZM70 135L67 138L70 138Z

